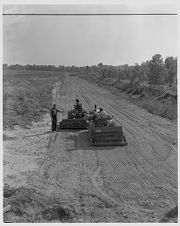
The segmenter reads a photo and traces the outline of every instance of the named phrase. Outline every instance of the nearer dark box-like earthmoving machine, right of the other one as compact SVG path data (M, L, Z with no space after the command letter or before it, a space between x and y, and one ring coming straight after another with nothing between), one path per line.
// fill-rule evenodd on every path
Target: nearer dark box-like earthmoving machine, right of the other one
M88 127L89 141L94 146L125 146L127 140L122 126L117 126L109 119L91 121Z

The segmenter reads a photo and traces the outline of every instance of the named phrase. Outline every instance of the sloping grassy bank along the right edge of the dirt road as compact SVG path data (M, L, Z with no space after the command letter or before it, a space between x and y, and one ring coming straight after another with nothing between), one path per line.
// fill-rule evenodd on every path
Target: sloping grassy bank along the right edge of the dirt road
M108 88L116 95L123 95L150 113L170 120L177 120L177 90L162 86L150 88L147 85L131 84L129 81L113 81L111 78L101 78L100 80L99 76L98 74L80 75L81 78L89 82Z

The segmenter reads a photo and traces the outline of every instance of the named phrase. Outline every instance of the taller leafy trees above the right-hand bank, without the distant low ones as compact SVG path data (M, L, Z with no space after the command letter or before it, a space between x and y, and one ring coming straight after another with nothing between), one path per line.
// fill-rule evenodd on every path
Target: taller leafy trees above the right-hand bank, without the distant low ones
M150 86L169 85L177 83L177 58L166 57L163 60L160 54L155 54L152 59L141 64L129 66L104 66L101 67L99 79L115 78L116 82L128 79L132 84L146 82Z

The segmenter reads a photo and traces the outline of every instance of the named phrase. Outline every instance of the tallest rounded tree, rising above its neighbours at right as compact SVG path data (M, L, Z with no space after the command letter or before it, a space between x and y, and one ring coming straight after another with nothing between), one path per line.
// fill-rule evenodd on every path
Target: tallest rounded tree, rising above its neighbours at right
M148 63L148 82L150 85L160 85L163 81L163 58L160 54L155 54Z

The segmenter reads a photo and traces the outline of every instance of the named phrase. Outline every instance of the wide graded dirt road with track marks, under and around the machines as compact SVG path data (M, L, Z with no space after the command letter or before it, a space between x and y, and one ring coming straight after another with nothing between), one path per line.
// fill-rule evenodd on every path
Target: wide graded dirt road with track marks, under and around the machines
M73 222L159 222L177 205L176 124L77 77L56 83L53 95L64 111L58 121L78 97L112 114L128 145L91 147L87 131L47 133L28 186L73 209Z

